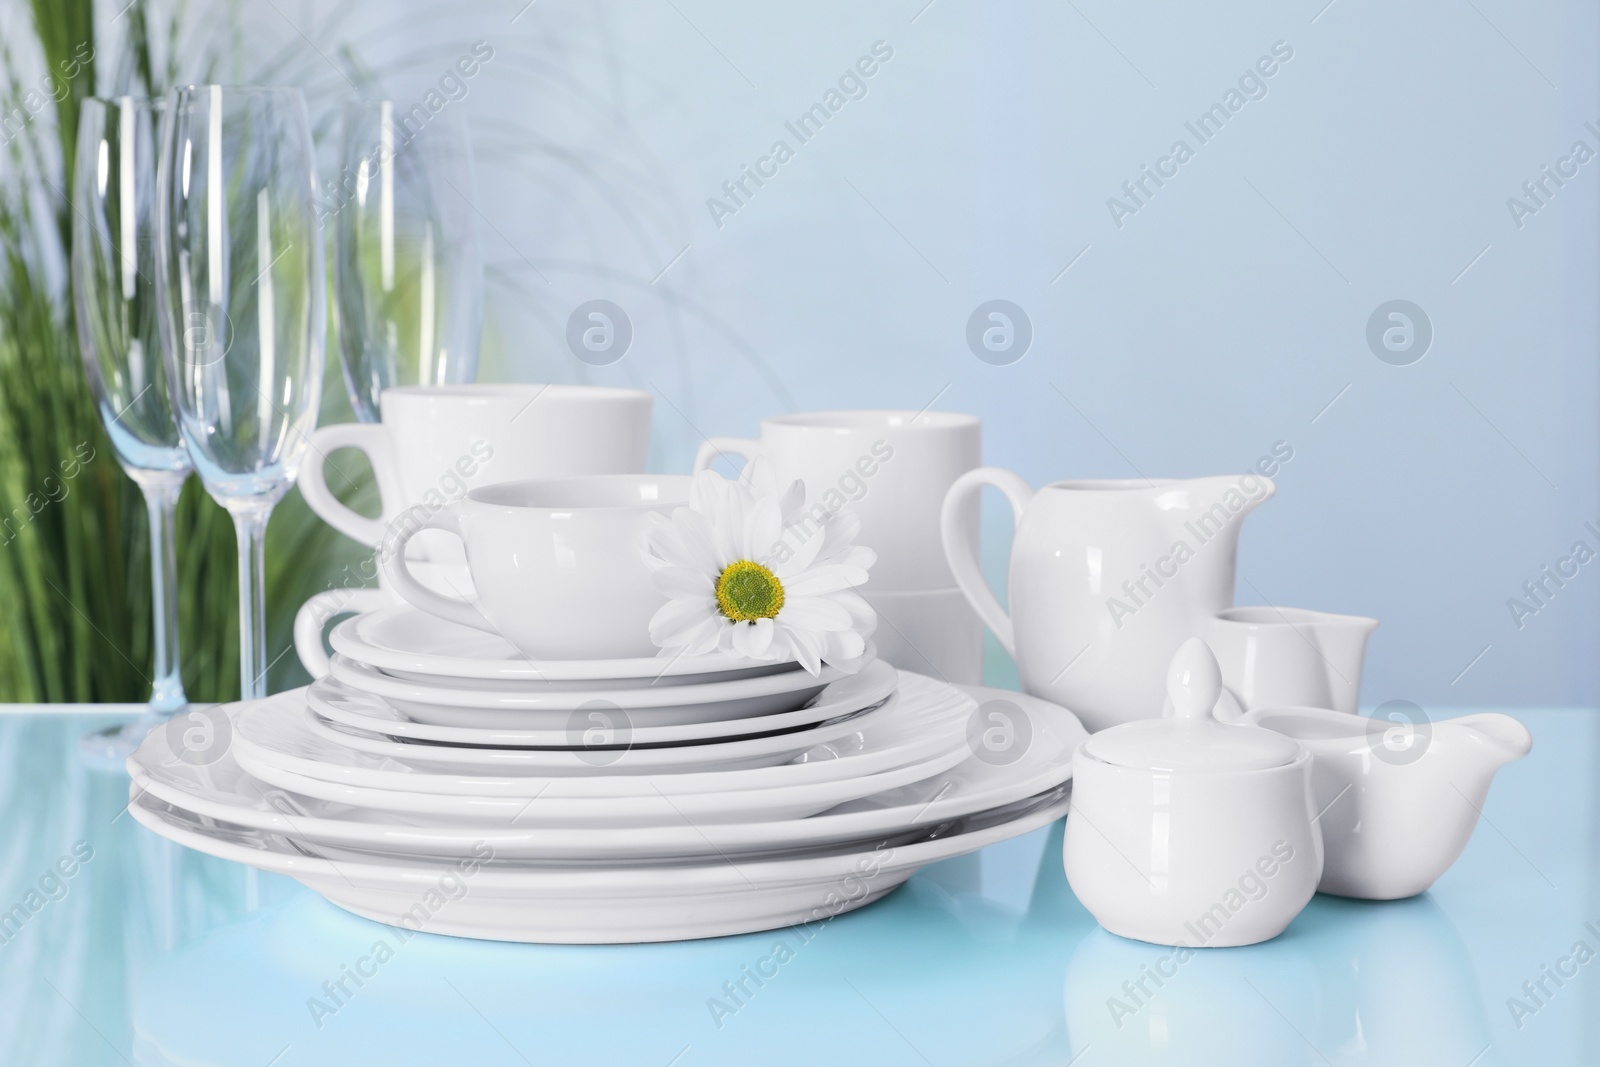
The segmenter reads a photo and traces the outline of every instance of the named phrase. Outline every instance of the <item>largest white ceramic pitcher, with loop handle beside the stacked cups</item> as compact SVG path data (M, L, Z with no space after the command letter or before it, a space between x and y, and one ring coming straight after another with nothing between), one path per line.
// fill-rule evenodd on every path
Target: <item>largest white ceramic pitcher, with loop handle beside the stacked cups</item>
M971 534L986 485L1005 493L1016 518L1010 616L984 582ZM944 552L1016 659L1022 688L1104 729L1162 713L1166 664L1234 603L1240 523L1274 490L1243 474L1056 482L1035 493L1010 470L979 467L944 498Z

